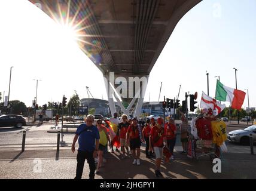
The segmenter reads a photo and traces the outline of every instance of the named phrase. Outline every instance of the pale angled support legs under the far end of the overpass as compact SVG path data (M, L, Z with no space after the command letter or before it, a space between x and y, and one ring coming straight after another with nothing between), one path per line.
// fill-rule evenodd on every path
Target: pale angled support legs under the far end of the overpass
M121 112L139 118L149 75L117 75L114 72L109 72L103 74L103 77L111 115L113 116L116 112L115 99Z

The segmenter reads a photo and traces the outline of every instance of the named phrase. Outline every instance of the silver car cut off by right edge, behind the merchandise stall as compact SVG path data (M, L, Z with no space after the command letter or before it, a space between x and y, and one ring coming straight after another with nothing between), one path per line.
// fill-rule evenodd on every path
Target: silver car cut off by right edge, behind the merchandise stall
M256 125L252 125L244 130L235 130L228 133L227 138L229 141L233 141L241 144L249 144L249 134L252 133L254 142L256 141Z

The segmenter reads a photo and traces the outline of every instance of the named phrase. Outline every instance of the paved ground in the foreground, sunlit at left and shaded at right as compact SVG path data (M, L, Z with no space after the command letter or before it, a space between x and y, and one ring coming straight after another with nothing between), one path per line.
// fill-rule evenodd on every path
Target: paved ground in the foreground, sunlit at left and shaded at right
M209 157L196 161L175 150L175 160L161 165L163 179L176 178L255 178L255 155L247 153L225 153L221 173L214 173ZM44 150L0 151L0 178L74 178L77 165L77 153L70 148ZM106 164L97 179L156 178L155 159L147 159L144 150L141 153L141 165L133 165L132 158L120 159L120 153L107 153ZM88 178L89 166L84 166L83 178Z

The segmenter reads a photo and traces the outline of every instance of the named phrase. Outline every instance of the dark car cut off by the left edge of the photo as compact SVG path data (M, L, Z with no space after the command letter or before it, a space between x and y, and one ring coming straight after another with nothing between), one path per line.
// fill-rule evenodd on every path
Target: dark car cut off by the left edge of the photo
M26 125L26 118L22 115L1 115L0 116L0 127L18 127L22 128Z

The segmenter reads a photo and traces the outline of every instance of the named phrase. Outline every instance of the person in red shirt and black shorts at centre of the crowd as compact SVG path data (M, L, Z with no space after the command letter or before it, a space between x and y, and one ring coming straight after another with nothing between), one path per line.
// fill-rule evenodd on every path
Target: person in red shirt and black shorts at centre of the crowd
M141 127L138 125L137 118L132 119L132 125L129 126L126 133L126 143L130 139L130 149L134 158L133 164L140 165L139 156L141 155L141 142L144 142L144 135ZM137 153L136 153L137 152Z

